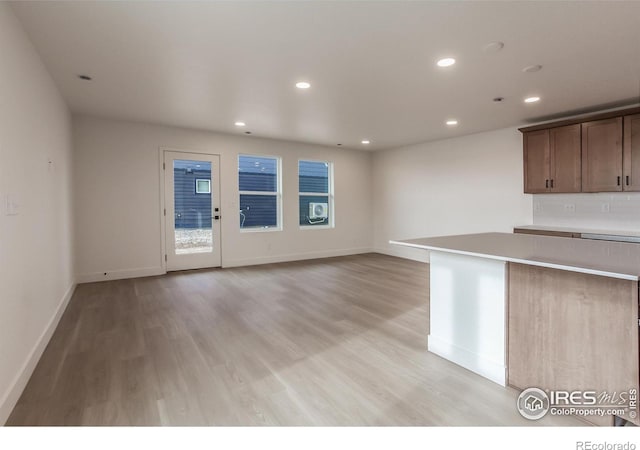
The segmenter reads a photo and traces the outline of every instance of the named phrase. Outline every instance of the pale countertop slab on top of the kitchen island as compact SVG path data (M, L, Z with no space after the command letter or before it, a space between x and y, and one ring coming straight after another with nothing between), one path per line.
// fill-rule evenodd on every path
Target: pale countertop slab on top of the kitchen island
M625 242L480 233L389 243L623 280L640 279L640 245Z

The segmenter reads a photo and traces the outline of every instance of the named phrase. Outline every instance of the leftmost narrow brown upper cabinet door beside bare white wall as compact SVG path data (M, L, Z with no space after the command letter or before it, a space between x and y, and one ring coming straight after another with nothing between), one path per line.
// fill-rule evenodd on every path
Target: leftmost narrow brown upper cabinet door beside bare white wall
M524 140L524 192L549 192L549 130L530 131Z

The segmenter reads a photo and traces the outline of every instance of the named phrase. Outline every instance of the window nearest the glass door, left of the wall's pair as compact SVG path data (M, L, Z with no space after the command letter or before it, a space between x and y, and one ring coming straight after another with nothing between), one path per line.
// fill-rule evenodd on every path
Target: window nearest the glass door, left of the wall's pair
M279 173L279 158L238 157L241 229L280 229Z

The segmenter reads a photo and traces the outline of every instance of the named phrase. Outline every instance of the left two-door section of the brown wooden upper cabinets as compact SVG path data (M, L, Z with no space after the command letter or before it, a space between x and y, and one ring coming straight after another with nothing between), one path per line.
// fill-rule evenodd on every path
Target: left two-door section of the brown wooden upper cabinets
M524 133L524 191L580 192L580 125Z

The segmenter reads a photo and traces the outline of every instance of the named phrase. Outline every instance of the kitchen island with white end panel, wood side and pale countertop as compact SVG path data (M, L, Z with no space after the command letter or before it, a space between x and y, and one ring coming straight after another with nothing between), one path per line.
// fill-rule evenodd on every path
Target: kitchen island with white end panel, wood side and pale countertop
M430 252L429 351L518 389L637 392L640 245L508 233L391 243Z

